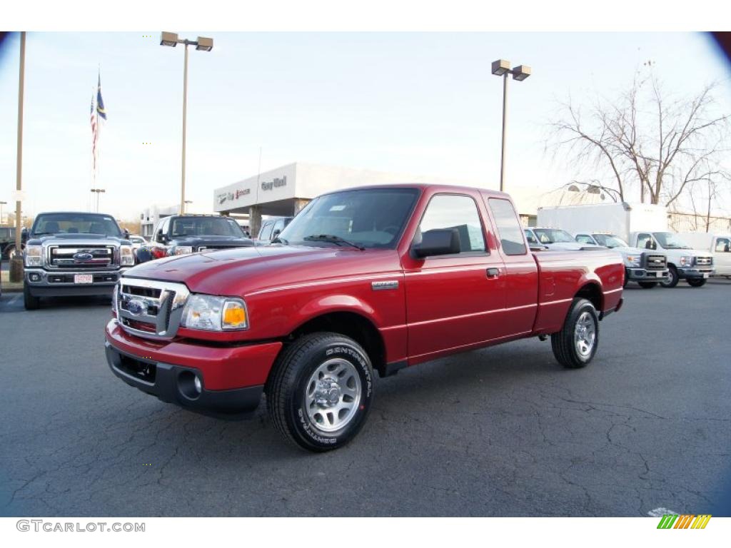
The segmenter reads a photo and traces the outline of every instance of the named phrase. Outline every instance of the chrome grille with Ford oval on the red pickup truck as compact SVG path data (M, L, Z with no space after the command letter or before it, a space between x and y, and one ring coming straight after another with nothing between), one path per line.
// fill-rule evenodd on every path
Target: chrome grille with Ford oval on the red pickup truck
M122 277L115 287L117 319L138 337L172 339L190 292L182 283Z

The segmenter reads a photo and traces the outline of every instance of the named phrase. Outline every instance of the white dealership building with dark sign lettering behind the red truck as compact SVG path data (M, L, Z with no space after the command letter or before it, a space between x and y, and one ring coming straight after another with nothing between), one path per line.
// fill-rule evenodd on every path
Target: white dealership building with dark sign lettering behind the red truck
M251 235L257 235L262 216L294 216L324 192L353 186L387 183L428 183L485 187L452 178L404 175L296 162L262 172L213 191L213 210L222 215L249 216Z

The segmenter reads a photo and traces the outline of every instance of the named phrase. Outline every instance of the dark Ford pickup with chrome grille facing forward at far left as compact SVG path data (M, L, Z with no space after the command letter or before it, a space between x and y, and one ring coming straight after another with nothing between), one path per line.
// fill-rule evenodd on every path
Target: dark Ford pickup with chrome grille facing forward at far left
M113 216L102 213L39 213L23 253L23 302L39 308L41 297L109 295L135 265L132 243Z

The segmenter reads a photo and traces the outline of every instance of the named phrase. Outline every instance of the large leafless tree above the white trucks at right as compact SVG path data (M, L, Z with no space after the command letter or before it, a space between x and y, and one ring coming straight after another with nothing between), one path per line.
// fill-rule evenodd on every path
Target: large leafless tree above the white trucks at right
M581 107L569 98L548 124L546 148L577 169L608 174L621 200L638 192L640 202L671 205L694 183L716 189L729 180L722 162L731 114L718 113L715 90L711 84L694 97L669 99L650 73L613 100L596 96Z

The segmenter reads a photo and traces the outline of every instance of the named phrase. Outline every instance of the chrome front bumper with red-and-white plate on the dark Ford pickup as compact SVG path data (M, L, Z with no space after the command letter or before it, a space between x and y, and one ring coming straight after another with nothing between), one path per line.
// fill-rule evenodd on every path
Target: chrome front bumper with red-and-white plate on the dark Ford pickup
M26 267L23 279L34 297L69 297L74 295L110 295L121 275L131 267L118 270L90 270L88 272L44 270ZM74 275L91 274L92 283L75 283Z

